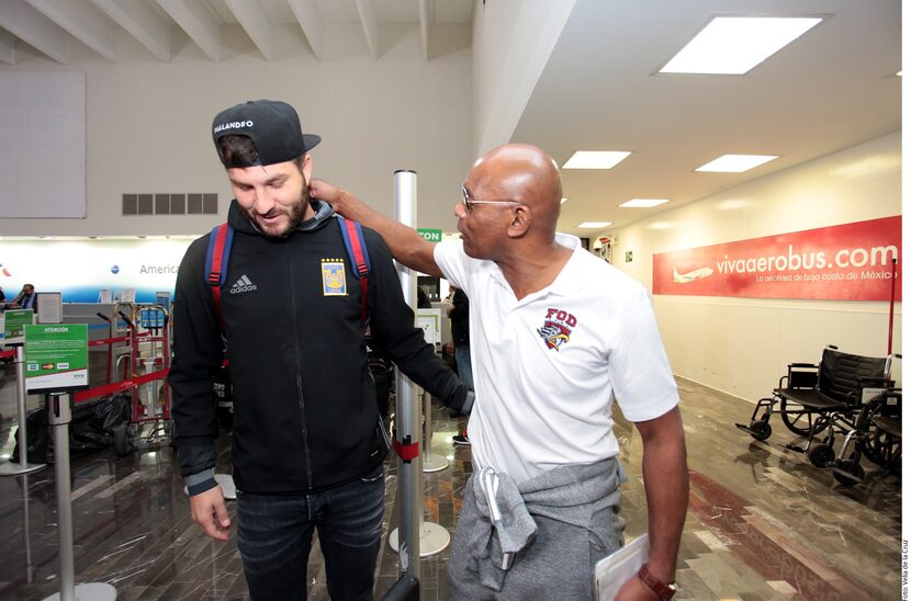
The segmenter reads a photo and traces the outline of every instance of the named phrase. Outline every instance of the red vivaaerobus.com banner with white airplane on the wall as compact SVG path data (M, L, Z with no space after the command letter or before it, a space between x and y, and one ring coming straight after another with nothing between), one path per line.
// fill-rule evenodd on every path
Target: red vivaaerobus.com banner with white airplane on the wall
M901 215L652 257L652 293L901 300Z

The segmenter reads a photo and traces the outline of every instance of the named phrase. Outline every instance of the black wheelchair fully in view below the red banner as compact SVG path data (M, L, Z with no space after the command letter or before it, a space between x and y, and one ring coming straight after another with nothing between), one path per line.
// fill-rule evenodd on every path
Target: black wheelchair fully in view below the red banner
M769 419L779 413L788 430L807 438L805 446L787 447L805 453L810 463L823 467L835 458L835 433L846 434L854 429L864 389L891 385L890 366L891 358L868 358L825 347L818 364L788 365L772 397L756 402L750 424L735 426L756 440L766 440L772 435ZM812 444L813 436L824 430L828 433L822 443Z

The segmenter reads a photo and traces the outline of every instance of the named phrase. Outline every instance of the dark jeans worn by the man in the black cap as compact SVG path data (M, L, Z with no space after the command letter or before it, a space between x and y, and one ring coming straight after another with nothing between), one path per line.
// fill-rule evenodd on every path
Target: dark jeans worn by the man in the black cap
M297 497L237 491L237 547L254 601L304 600L313 530L334 601L373 599L384 508L383 466L325 492Z

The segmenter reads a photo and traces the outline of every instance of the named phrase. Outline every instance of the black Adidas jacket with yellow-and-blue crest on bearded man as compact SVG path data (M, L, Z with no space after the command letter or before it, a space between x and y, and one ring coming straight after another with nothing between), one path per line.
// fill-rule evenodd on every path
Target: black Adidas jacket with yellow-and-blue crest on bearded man
M234 479L240 490L300 494L362 477L385 457L361 330L361 288L338 219L325 203L281 240L262 236L233 202L234 248L222 290L234 384ZM436 358L405 304L389 248L363 228L372 271L368 308L375 343L419 386L461 407L466 388ZM222 340L203 280L209 236L180 264L173 302L175 441L181 473L215 464L212 382ZM345 265L346 295L324 294L331 263Z

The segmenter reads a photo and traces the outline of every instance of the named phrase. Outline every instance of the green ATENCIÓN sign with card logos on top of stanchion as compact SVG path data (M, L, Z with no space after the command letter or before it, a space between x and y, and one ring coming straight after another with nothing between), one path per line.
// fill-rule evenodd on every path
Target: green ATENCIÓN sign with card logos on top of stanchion
M25 326L25 389L71 390L89 385L89 327Z

